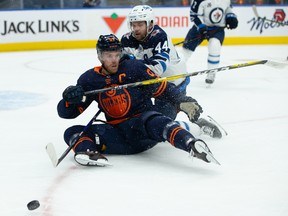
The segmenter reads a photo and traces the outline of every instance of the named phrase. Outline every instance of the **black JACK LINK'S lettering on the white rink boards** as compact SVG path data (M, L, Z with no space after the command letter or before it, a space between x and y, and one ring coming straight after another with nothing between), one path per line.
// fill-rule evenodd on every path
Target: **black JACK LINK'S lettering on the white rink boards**
M75 33L79 32L78 20L59 21L20 21L0 20L0 35L41 34L41 33Z

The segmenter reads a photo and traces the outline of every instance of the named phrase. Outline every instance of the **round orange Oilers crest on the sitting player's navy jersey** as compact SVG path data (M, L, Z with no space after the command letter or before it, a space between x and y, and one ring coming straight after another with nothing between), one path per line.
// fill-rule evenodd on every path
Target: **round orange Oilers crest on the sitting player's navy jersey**
M110 90L99 94L99 102L107 115L121 118L129 112L131 97L127 89Z

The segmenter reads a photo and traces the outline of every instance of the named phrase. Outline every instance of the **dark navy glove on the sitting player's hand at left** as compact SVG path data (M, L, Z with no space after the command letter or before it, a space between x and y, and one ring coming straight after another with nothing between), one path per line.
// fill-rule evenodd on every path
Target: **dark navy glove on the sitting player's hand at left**
M78 104L85 101L82 86L68 86L64 90L62 97L66 102L71 104Z

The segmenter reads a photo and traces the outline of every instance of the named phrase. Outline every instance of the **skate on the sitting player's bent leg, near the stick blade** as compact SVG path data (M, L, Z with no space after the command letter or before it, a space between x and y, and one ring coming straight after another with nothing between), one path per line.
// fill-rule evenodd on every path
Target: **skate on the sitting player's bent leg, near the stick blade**
M82 166L107 166L111 165L108 159L97 151L77 152L74 159Z

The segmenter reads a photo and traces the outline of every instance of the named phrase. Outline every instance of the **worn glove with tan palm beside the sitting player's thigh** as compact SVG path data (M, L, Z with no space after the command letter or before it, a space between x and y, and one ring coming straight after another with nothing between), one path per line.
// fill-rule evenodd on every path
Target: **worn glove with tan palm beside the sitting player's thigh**
M203 109L195 99L191 97L185 97L183 99L181 99L182 102L180 103L179 108L181 111L185 112L189 120L194 123L200 117Z

